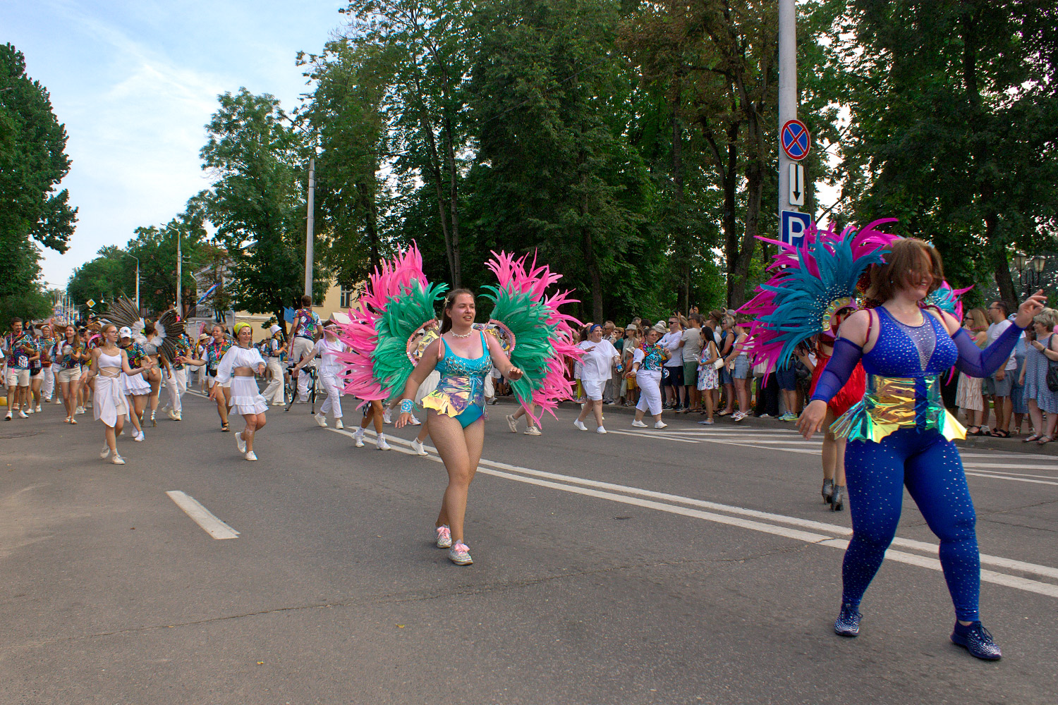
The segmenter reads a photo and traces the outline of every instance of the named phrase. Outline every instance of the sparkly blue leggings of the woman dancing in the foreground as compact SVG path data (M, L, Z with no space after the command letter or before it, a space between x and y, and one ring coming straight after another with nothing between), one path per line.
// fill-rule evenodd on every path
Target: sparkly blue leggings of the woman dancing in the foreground
M842 600L859 605L896 534L904 486L941 539L941 567L955 615L978 616L981 556L977 515L955 445L936 431L901 428L881 443L853 441L845 447L853 538L841 570Z

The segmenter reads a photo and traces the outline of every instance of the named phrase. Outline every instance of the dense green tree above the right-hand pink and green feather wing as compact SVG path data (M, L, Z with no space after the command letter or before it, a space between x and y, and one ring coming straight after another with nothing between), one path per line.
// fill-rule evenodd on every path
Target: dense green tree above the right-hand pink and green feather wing
M642 244L652 198L627 141L631 74L612 55L618 19L608 0L490 0L472 24L478 237L537 249L590 297L595 320L605 290L638 276L626 258Z

